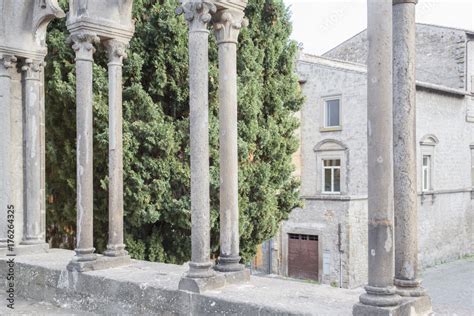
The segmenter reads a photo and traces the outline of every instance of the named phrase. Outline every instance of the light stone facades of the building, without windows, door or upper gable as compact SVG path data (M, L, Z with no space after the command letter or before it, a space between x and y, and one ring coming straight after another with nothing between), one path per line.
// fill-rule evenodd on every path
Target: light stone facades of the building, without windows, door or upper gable
M306 103L301 112L303 209L295 209L282 225L280 272L287 273L288 233L306 231L320 236L321 256L329 256L323 283L339 284L338 227L343 224L343 286L367 281L367 131L366 72L361 65L302 55L298 71ZM342 129L321 131L323 97L341 95ZM471 149L474 124L466 120L470 96L417 88L417 174L419 190L419 260L424 268L474 253L471 199ZM428 134L434 146L433 191L421 195L420 141ZM338 196L318 191L321 171L315 146L332 139L348 148L346 188ZM434 197L434 199L433 199ZM422 203L423 201L423 203ZM285 241L286 240L286 241ZM322 261L320 259L320 261Z

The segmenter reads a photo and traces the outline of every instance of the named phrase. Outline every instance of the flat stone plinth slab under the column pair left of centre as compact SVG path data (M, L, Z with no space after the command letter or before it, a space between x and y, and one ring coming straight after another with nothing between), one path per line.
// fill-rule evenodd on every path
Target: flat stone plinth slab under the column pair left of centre
M69 271L87 272L117 268L130 265L132 263L132 260L128 255L118 257L108 257L97 254L92 255L93 256L90 258L95 257L93 260L83 260L83 257L75 256L67 265L67 269Z

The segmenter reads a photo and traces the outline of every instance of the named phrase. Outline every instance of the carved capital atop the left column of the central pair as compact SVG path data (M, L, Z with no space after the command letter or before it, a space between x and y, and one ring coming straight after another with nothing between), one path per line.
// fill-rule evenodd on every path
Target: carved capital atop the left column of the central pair
M182 0L176 9L176 13L184 14L188 21L189 32L207 32L207 24L215 12L216 6L210 0Z

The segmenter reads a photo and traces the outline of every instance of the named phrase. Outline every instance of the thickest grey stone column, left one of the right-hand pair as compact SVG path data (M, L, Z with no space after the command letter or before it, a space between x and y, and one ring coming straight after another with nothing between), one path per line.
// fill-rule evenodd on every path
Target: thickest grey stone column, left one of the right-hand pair
M361 305L396 306L400 300L393 286L392 0L368 0L367 8L369 284L354 314L363 314Z

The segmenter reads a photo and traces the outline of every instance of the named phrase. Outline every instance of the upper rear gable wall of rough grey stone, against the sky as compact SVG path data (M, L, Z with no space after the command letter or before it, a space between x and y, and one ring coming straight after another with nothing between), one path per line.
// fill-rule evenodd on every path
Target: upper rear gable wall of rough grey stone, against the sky
M417 24L416 42L417 80L451 88L465 87L465 31ZM362 31L323 56L365 64L367 48L367 32Z

